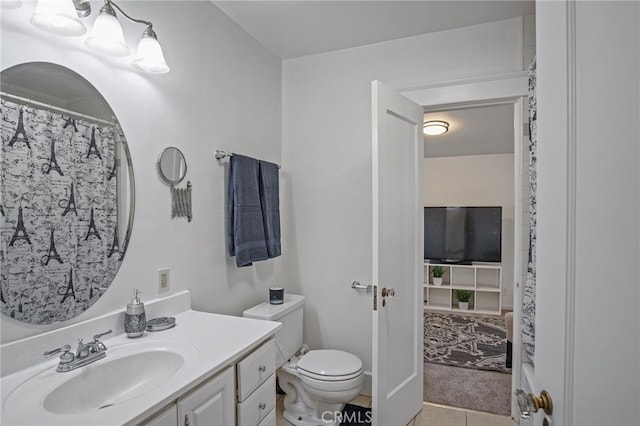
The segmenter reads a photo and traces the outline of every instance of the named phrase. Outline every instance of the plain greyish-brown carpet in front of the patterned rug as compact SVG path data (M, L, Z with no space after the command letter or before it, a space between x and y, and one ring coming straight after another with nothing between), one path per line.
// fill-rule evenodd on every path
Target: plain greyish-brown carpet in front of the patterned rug
M511 411L511 374L426 363L424 400L508 416Z

